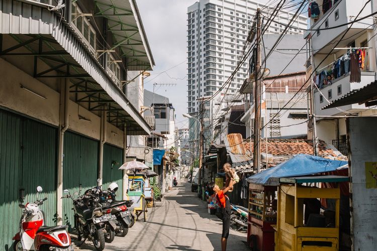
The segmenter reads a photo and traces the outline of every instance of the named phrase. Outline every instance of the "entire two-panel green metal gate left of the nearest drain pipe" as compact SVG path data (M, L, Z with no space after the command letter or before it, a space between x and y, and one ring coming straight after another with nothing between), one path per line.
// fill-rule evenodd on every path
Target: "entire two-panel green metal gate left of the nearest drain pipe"
M37 186L48 198L45 224L56 222L57 129L0 110L0 143L0 246L7 250L19 227L18 204L35 201Z

